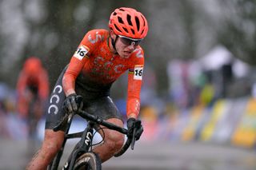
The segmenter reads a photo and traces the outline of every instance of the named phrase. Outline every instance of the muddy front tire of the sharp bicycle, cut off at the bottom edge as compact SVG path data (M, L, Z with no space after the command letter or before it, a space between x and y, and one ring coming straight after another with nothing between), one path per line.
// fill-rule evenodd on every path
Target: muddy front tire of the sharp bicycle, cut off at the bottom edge
M86 152L75 161L74 170L102 170L102 161L98 154Z

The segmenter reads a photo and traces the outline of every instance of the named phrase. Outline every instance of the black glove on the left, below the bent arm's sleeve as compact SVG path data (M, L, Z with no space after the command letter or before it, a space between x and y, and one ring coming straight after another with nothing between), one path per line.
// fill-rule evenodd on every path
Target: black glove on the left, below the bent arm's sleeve
M78 111L78 109L82 109L82 105L82 96L79 96L74 93L66 97L63 103L63 109L67 113L72 113Z

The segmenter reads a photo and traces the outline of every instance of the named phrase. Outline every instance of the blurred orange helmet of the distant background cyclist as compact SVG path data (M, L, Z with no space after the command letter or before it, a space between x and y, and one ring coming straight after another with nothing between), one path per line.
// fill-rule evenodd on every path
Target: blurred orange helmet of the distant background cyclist
M29 57L23 67L26 73L38 73L42 69L42 63L38 57Z

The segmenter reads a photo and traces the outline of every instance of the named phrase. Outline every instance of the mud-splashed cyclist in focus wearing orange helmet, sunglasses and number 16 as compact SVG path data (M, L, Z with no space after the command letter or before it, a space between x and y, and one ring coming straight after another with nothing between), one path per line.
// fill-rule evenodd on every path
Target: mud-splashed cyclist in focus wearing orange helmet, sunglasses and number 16
M115 125L123 126L122 116L110 98L110 87L114 81L129 70L127 97L127 128L133 131L138 121L140 89L144 65L143 49L139 46L148 32L146 18L137 10L118 8L110 15L110 30L90 30L62 71L50 97L46 113L46 131L42 148L28 164L27 169L46 169L61 148L65 130L54 132L53 128L65 115L82 107ZM77 96L83 102L76 101ZM63 105L62 105L63 104ZM62 106L64 109L62 109ZM122 148L124 136L104 128L104 142L94 148L102 162L110 159ZM143 131L136 132L136 140Z

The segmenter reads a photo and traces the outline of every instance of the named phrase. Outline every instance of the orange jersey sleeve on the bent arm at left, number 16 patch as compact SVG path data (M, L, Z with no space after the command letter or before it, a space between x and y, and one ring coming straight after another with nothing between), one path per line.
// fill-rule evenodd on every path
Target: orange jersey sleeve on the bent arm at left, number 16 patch
M75 93L75 80L78 77L78 74L82 71L83 65L90 59L90 53L93 52L94 46L99 42L96 41L98 40L97 38L101 38L101 35L98 34L97 30L89 31L78 45L78 49L74 52L74 55L71 57L70 64L62 79L62 85L66 96Z

